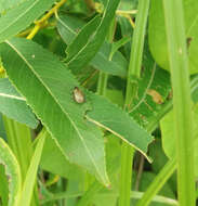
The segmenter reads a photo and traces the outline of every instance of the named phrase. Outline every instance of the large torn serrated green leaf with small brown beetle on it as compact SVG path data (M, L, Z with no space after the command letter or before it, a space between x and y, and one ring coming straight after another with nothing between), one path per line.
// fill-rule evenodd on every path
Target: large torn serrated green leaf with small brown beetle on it
M100 180L102 175L106 176L101 131L84 116L146 153L153 138L126 112L104 98L85 91L85 102L75 102L72 92L79 85L55 56L25 39L13 39L8 44L0 47L0 53L9 77L71 163L83 166ZM16 61L17 70L13 69ZM21 74L26 78L21 78ZM105 179L102 180L104 182Z

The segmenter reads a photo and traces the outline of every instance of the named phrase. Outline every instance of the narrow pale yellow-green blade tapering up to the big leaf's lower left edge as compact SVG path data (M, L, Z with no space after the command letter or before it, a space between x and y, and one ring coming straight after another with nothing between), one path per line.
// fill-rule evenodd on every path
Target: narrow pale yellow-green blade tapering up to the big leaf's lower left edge
M34 188L35 188L36 179L37 179L38 166L39 166L39 162L40 162L40 157L41 157L41 153L42 153L42 149L43 149L43 144L45 140L45 133L47 133L45 130L42 130L42 132L40 133L37 146L35 149L35 153L31 157L31 162L27 170L25 181L23 183L22 199L19 204L21 206L30 205L31 196L32 196L32 192L34 192Z

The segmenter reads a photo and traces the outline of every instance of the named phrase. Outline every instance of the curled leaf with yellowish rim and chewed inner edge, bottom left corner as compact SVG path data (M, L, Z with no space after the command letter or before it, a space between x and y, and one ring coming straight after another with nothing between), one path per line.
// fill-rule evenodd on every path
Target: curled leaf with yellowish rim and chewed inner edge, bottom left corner
M0 138L0 164L5 167L9 177L9 205L18 206L21 198L22 178L19 165L9 145Z

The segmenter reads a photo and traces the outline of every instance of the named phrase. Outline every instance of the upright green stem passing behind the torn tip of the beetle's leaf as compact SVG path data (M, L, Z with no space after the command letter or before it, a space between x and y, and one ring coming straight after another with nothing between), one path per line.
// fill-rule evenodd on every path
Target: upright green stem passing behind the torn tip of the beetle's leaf
M130 65L128 69L127 80L124 108L128 111L131 108L132 101L136 95L137 80L141 76L141 65L148 8L149 0L138 1L138 12L132 40L133 43L131 46ZM122 142L119 206L130 206L133 155L134 149Z

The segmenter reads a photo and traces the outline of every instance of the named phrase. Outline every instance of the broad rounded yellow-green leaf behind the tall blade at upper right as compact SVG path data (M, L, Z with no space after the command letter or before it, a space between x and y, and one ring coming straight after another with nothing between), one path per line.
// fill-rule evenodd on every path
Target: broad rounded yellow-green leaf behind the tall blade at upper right
M156 62L169 69L168 44L166 37L162 0L153 0L149 14L149 46ZM190 74L198 72L198 1L183 0L185 14L186 41Z

